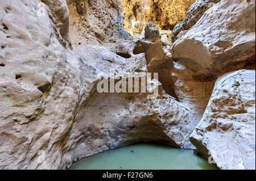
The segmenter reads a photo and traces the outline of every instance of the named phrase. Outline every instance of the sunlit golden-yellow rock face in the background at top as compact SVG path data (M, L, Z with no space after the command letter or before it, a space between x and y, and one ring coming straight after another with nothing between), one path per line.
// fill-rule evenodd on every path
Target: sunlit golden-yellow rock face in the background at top
M143 26L153 22L159 30L172 30L183 21L188 8L196 0L122 0L125 30L131 35L141 33Z

